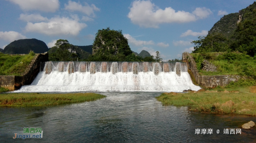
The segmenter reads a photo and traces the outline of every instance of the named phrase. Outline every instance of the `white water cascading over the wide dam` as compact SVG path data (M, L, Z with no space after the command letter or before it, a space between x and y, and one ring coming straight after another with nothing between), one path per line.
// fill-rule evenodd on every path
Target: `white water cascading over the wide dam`
M199 90L186 63L48 61L29 86L15 92Z

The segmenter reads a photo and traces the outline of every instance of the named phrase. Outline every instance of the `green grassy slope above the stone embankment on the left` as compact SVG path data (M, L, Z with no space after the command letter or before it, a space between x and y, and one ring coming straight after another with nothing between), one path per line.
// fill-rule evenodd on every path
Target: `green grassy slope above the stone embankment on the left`
M0 75L20 76L25 72L33 57L34 54L20 56L0 53Z

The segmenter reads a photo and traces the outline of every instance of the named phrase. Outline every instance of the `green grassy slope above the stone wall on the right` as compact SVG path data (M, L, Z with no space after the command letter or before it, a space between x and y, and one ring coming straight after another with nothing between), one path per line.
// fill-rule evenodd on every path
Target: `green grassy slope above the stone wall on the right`
M256 77L256 57L236 52L191 53L195 61L201 55L217 67L217 72L206 72L199 69L200 75L242 75ZM202 58L201 57L201 58Z

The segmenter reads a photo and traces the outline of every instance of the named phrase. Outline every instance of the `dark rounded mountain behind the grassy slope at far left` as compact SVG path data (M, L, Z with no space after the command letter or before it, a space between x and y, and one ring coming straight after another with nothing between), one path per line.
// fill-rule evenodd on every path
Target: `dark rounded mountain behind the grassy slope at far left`
M28 54L32 50L35 53L44 53L48 51L47 45L37 39L20 39L15 40L9 45L7 45L3 53L5 54Z

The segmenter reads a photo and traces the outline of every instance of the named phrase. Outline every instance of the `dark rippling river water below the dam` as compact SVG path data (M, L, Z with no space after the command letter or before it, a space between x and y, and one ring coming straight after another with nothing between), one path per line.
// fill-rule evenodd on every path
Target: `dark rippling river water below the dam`
M252 116L206 114L162 106L160 92L98 92L106 98L46 107L0 107L0 142L256 142L256 128L223 134L256 122ZM12 139L25 127L42 127L41 139ZM213 134L195 134L195 129ZM217 134L217 130L220 130Z

